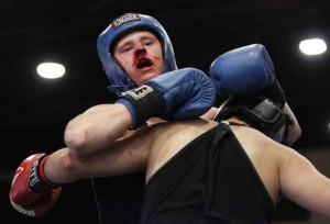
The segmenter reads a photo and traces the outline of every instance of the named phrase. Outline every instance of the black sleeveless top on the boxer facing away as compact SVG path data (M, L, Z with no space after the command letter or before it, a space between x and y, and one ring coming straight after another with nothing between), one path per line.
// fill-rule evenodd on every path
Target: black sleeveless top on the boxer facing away
M275 204L244 149L220 123L146 184L141 224L270 223Z

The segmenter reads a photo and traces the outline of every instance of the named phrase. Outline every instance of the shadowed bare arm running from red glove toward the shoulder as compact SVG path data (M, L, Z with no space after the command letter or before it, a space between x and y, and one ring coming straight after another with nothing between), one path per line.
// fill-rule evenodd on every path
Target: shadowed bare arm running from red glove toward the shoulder
M111 177L142 171L145 169L151 144L151 138L147 136L151 135L145 133L141 136L140 133L135 137L132 136L88 156L76 156L68 148L56 150L45 161L45 177L51 182L62 184L91 177Z

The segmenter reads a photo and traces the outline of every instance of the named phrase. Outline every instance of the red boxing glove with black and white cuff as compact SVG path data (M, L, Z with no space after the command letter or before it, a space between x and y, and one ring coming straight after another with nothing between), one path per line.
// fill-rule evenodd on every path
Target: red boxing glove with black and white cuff
M29 216L45 214L59 197L62 187L52 184L44 175L44 164L50 155L35 154L24 159L13 177L10 202Z

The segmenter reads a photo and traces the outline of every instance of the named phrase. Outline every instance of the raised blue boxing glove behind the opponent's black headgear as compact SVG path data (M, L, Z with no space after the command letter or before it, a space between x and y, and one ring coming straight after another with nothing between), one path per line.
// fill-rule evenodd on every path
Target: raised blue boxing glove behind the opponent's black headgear
M286 102L274 74L273 61L261 44L243 46L220 55L210 66L209 72L219 94L263 94L279 108Z

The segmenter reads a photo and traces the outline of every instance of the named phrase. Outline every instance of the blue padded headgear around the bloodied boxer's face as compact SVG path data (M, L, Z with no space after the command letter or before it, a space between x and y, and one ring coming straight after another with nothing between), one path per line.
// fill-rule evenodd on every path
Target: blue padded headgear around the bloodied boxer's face
M112 48L120 37L132 31L140 30L151 31L162 43L164 55L163 72L177 69L170 40L161 23L150 15L138 13L123 14L114 19L99 35L97 41L98 54L111 83L107 89L119 96L127 90L136 88L136 85L130 79L120 65L116 63Z

